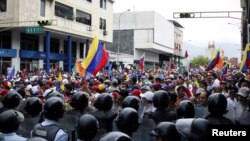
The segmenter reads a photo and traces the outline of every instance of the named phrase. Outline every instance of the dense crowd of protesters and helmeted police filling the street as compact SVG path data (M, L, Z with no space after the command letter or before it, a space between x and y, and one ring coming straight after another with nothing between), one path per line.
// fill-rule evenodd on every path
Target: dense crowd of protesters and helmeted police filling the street
M20 71L0 84L5 141L199 141L209 125L250 125L250 69Z

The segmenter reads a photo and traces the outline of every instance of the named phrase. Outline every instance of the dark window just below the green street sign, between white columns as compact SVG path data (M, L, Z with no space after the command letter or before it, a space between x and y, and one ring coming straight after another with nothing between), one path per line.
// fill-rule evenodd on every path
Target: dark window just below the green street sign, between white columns
M21 33L21 49L38 51L39 36Z

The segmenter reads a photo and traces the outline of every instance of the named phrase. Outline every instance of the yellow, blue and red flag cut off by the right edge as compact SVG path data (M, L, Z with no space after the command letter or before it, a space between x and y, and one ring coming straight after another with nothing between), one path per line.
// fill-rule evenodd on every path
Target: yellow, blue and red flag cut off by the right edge
M250 44L246 45L245 51L243 52L243 57L240 63L240 71L246 72L247 68L250 67Z

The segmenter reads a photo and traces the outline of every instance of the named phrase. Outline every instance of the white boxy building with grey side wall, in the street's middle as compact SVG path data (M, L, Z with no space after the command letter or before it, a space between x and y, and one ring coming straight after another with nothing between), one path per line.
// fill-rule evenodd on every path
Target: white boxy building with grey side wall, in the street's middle
M154 11L114 13L113 28L112 61L138 63L145 53L146 66L162 66L182 56L182 26Z

